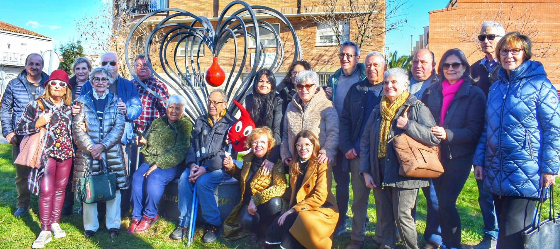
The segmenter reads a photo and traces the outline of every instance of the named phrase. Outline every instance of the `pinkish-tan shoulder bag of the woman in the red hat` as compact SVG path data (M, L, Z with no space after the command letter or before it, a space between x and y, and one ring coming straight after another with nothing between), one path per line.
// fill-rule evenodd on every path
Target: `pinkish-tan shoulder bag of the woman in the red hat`
M38 107L45 110L43 102L37 100ZM24 139L20 142L20 154L17 156L14 164L24 165L31 168L39 168L39 161L41 160L41 149L43 148L43 139L46 134L46 129L41 126L39 132L31 135L25 135Z

